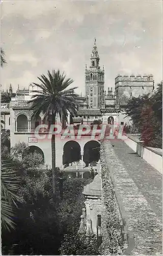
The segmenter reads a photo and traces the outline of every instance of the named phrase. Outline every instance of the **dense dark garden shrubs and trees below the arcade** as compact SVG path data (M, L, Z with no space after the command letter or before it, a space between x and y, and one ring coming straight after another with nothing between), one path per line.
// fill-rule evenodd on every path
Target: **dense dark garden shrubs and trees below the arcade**
M82 191L84 185L92 180L68 178L57 168L56 195L53 197L52 170L43 173L39 168L41 156L37 153L23 155L24 148L25 143L18 143L11 149L10 160L17 166L20 176L17 195L21 201L17 202L18 208L15 208L13 216L16 228L10 232L3 229L3 254L58 255L66 251L65 234L74 237L77 234L80 215L85 206ZM78 239L73 244L76 248ZM83 254L86 247L85 244ZM88 250L91 251L90 243Z

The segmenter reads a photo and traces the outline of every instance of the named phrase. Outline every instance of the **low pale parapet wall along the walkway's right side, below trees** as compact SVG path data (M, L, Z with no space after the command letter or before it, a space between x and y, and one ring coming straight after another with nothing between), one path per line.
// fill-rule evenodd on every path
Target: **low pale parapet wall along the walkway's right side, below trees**
M143 146L139 135L135 134L128 134L123 140L135 153L162 174L162 150L160 148Z

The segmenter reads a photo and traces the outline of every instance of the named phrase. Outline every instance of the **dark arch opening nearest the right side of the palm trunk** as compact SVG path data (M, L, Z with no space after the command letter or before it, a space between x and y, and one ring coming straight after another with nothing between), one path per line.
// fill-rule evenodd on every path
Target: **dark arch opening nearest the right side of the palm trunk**
M69 163L77 162L82 159L80 151L81 149L78 142L73 140L67 141L63 147L63 165L69 165Z

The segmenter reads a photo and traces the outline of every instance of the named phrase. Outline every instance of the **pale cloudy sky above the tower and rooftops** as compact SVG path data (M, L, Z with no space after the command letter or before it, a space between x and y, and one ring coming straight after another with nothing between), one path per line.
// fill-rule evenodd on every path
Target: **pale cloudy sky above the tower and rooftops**
M47 70L65 72L85 94L85 67L96 37L105 90L118 74L162 80L162 1L3 1L1 84L13 91L39 82Z

